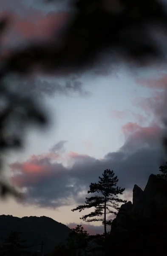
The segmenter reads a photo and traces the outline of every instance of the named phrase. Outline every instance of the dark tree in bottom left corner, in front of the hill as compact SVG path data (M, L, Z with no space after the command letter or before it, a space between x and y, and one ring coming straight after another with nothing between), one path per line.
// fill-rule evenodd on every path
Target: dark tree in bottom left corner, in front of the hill
M25 240L20 238L22 232L11 231L8 238L3 238L2 255L3 256L26 256L29 254L28 248L33 245L25 244Z

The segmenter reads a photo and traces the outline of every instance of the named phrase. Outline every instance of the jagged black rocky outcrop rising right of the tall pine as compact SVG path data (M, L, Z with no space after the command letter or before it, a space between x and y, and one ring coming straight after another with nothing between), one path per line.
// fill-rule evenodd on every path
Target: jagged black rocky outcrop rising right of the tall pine
M144 191L135 185L133 204L123 204L113 220L108 251L112 248L117 256L166 256L166 241L167 182L150 175Z

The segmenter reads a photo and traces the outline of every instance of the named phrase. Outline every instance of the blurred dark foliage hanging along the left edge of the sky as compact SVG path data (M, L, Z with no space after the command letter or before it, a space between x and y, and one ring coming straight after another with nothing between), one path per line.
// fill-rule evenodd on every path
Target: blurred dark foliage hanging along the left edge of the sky
M7 20L0 22L1 37L7 24ZM3 107L0 109L0 196L5 198L7 194L11 194L17 198L23 198L22 193L3 180L3 153L11 149L22 148L25 129L34 123L45 125L47 119L37 102L34 102L28 95L26 97L22 96L24 88L16 93L10 90L8 84L3 80L8 75L6 67L6 63L2 64L0 76L0 101L3 102ZM12 129L13 125L17 126L15 131Z

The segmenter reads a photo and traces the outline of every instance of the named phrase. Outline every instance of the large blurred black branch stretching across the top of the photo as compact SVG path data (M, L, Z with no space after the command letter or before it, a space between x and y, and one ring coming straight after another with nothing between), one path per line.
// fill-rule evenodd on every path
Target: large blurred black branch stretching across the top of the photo
M27 74L37 68L43 72L89 67L99 52L118 50L138 62L141 58L162 57L148 31L148 25L166 28L167 15L156 0L121 0L120 12L112 12L112 0L78 0L71 26L50 43L31 44L17 50L6 61L1 76L8 72ZM110 12L104 3L110 5ZM70 71L69 71L70 68Z

